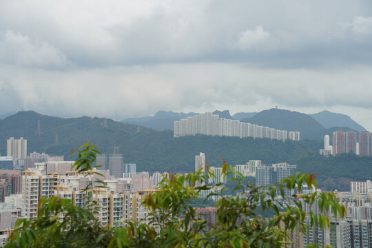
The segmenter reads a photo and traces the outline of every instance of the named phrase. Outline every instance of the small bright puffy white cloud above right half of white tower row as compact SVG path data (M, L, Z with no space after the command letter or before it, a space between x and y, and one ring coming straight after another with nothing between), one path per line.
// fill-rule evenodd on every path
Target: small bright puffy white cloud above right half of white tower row
M262 43L269 39L270 33L263 30L261 26L257 26L255 30L245 30L239 34L238 47L241 50L248 50L254 45Z

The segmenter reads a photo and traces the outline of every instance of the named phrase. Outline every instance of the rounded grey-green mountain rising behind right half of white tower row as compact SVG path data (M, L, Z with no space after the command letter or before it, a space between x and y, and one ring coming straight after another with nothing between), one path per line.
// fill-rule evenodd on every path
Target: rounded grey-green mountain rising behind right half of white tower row
M276 108L263 110L255 116L244 118L241 121L280 130L300 131L301 138L320 139L327 133L326 128L307 114Z

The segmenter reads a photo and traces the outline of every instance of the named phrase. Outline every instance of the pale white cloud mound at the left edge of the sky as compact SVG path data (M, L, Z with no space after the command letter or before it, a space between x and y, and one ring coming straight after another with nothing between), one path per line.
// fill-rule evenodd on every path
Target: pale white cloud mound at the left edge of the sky
M6 30L0 32L0 63L25 67L63 68L69 62L54 46L32 41L27 35Z

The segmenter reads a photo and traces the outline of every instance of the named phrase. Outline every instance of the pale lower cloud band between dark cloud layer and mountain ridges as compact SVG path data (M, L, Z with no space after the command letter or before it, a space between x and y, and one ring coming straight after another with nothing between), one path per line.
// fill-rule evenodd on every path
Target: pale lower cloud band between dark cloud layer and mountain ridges
M121 119L158 110L254 112L278 105L316 112L326 106L341 113L347 108L364 112L364 116L353 116L352 111L347 114L355 119L363 117L361 124L372 129L371 77L369 68L317 72L262 70L226 63L70 72L8 67L0 68L0 113L20 110L23 105L26 110L56 116ZM351 96L351 92L355 94Z

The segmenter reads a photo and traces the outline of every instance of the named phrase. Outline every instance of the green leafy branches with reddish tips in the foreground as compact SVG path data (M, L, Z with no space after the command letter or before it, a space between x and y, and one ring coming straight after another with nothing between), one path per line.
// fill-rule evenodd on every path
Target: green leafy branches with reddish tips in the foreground
M95 152L99 151L89 143L81 147L76 169L89 171ZM224 163L223 173L234 171ZM299 199L311 205L318 200L324 213L330 209L335 216L343 217L345 213L333 193L298 194L291 204L276 200L277 190L284 197L284 189L301 187L302 183L316 187L311 174L298 173L267 187L255 187L238 178L235 190L245 193L218 200L216 224L207 231L209 224L198 218L191 204L201 190L210 189L207 185L195 187L205 180L207 176L200 171L164 178L158 191L143 198L142 204L150 211L148 225L127 221L125 227L103 227L94 216L96 210L90 207L94 205L91 198L85 207L76 207L67 199L42 198L37 219L17 221L7 247L282 247L290 243L291 231L307 228ZM257 209L275 214L264 218L257 214ZM311 225L330 225L329 218L322 214L311 213L310 218ZM279 223L284 225L283 229Z

